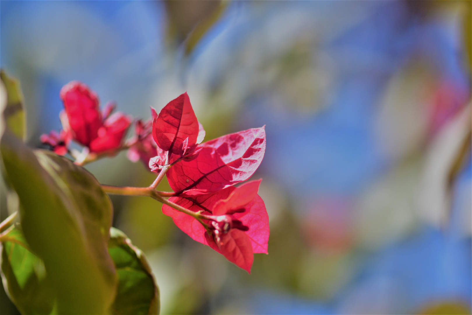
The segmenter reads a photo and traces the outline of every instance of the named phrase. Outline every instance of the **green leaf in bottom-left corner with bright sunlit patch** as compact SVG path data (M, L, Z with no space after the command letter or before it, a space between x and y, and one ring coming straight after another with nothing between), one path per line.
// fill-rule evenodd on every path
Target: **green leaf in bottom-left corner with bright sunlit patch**
M44 263L28 248L19 227L2 240L1 276L10 299L22 314L51 314L55 294Z

